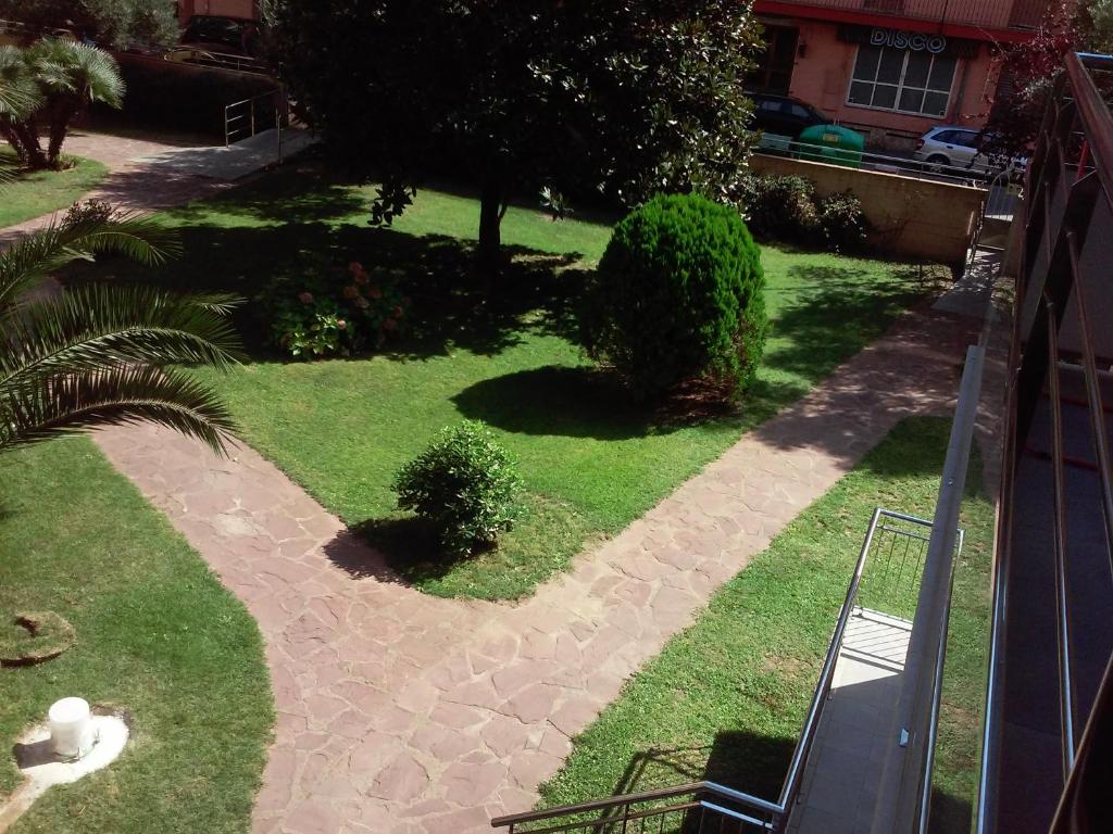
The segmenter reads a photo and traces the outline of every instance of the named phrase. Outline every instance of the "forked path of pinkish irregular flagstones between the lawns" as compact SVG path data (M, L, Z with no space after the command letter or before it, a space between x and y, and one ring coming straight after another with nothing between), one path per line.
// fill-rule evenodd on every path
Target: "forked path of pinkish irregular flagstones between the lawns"
M570 738L892 426L947 413L977 322L905 316L519 605L427 597L254 450L98 443L257 618L278 709L255 830L465 834L528 810Z

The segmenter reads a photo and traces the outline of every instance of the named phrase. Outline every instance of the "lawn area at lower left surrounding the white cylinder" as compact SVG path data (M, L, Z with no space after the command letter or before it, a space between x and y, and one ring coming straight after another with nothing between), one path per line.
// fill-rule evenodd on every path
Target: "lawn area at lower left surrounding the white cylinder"
M132 716L110 767L51 788L10 830L246 832L274 715L255 622L87 438L0 457L0 627L52 610L76 644L0 668L0 747L79 695ZM17 784L10 755L0 796Z

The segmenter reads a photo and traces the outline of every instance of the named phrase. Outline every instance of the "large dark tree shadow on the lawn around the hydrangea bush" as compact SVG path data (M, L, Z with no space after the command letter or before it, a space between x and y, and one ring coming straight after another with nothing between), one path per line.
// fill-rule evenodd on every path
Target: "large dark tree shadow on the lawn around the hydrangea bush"
M175 291L232 292L246 299L236 325L254 360L288 359L268 345L256 300L280 276L335 269L342 286L347 265L400 268L400 289L413 299L410 332L384 350L421 359L465 349L494 355L520 342L523 330L571 336L584 272L569 268L578 256L509 247L498 274L476 269L474 245L456 238L414 237L390 229L303 222L296 227L179 229L184 257L157 268L125 260L76 265L66 281L121 280ZM324 266L323 266L324 265Z

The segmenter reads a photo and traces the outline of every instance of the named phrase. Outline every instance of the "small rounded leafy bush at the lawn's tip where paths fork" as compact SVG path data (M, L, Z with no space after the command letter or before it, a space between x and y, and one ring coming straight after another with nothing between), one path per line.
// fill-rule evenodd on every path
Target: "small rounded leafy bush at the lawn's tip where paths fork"
M452 556L490 547L521 517L516 464L482 423L442 430L394 479L398 508L430 520Z

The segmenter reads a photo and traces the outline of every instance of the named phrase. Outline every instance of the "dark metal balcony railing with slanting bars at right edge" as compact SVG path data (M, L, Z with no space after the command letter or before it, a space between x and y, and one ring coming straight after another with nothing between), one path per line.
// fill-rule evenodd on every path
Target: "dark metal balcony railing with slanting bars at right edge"
M1005 634L1011 600L1007 584L1013 540L1014 495L1020 459L1028 451L1030 429L1045 387L1050 396L1052 483L1052 559L1054 622L1058 659L1060 735L1062 772L1066 781L1075 767L1078 714L1075 697L1071 599L1072 543L1067 527L1064 471L1064 427L1061 374L1064 335L1070 331L1081 369L1084 406L1093 444L1094 468L1104 522L1104 545L1113 559L1113 470L1110 468L1105 406L1100 385L1095 331L1087 310L1087 292L1107 298L1107 260L1101 259L1110 236L1113 216L1113 116L1094 80L1095 72L1113 71L1113 58L1068 54L1066 72L1052 97L1036 151L1028 170L1024 202L1025 230L1021 268L1016 282L1016 316L1009 355L1012 378L1008 388L1005 428L1005 459L1002 473L1002 510L998 517L998 547L994 569L993 614L989 647L989 678L983 735L981 788L976 831L996 830L1001 780L999 749L1003 734L1003 675ZM1111 76L1110 78L1113 78ZM1105 89L1110 89L1106 85ZM1093 232L1093 234L1091 234ZM1087 241L1091 245L1087 248ZM1093 251L1091 251L1093 250ZM1095 259L1083 259L1091 252ZM1099 296L1101 297L1101 296ZM1072 315L1065 318L1067 311ZM1102 322L1104 324L1104 322ZM1105 328L1103 327L1103 330ZM1105 339L1107 344L1107 339ZM1102 365L1109 361L1102 359ZM1075 496L1074 500L1077 500ZM1113 569L1113 562L1111 562ZM1013 603L1015 604L1015 603ZM1046 827L1050 821L1033 821Z

